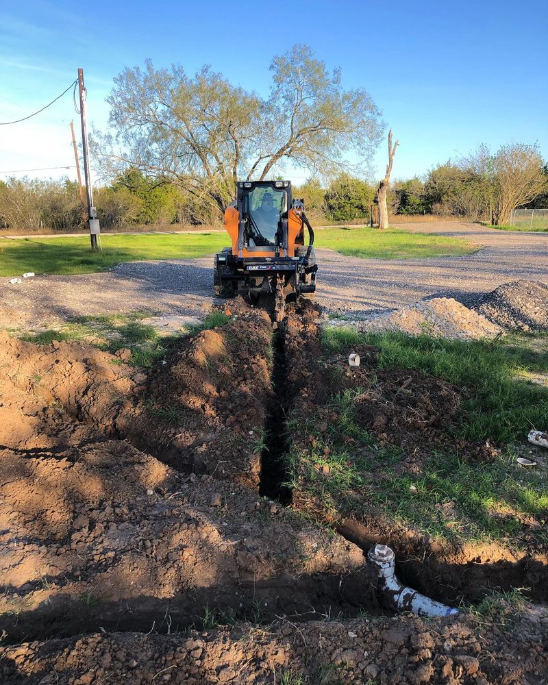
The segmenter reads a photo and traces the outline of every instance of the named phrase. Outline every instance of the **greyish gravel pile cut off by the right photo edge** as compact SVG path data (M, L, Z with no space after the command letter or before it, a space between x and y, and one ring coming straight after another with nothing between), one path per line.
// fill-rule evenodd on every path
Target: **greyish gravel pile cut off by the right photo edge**
M506 329L548 328L548 287L536 281L512 281L482 297L474 309Z

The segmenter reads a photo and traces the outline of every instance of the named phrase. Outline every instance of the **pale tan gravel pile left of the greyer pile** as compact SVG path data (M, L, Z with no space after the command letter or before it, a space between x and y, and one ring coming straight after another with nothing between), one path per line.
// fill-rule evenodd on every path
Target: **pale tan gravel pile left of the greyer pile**
M501 332L496 323L449 297L419 302L357 325L360 332L397 330L413 336L427 333L460 340L493 338Z

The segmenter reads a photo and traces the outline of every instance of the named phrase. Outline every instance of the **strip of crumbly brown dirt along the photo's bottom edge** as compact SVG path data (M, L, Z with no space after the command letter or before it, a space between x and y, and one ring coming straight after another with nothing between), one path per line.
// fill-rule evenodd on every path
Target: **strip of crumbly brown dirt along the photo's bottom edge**
M506 621L506 623L505 623ZM508 627L515 632L510 634ZM6 685L379 683L522 685L548 669L548 615L492 621L411 616L225 627L185 635L95 634L0 650Z

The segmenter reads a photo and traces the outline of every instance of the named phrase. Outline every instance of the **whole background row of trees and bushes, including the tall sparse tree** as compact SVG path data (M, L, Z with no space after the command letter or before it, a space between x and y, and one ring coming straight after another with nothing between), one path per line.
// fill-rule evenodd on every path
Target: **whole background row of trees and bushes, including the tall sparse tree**
M548 166L538 146L522 143L495 152L481 145L423 178L373 185L365 179L386 127L369 93L344 88L340 69L327 69L307 45L275 55L270 71L266 97L208 66L188 75L148 61L119 74L107 99L109 130L91 141L105 180L94 190L101 225L219 225L238 179L279 178L288 169L310 177L293 195L316 224L374 221L377 192L384 199L387 190L392 215L504 224L516 207L547 206ZM73 182L0 182L0 227L64 230L80 216Z

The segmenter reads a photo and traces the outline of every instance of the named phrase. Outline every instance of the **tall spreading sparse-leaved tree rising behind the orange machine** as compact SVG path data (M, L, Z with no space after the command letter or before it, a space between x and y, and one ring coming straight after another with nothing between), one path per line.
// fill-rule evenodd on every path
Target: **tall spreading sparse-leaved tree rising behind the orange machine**
M284 164L330 173L363 169L382 136L380 113L362 88L345 90L306 45L271 63L269 97L203 67L125 69L108 97L111 133L95 134L103 175L132 166L175 182L218 212L236 179L264 179ZM351 164L349 156L362 160Z

